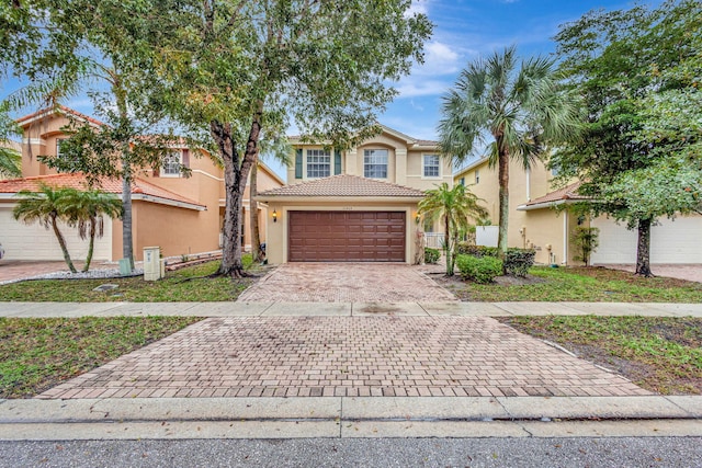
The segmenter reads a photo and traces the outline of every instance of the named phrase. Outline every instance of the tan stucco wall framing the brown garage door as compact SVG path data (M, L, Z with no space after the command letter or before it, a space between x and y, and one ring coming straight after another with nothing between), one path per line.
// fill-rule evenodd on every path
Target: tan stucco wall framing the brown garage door
M273 222L272 213L278 213L278 221ZM344 203L344 202L269 202L269 212L265 218L268 225L267 256L271 264L287 262L287 220L288 210L330 210L330 212L405 212L407 220L405 261L411 264L415 260L415 237L418 225L415 222L417 216L417 203Z

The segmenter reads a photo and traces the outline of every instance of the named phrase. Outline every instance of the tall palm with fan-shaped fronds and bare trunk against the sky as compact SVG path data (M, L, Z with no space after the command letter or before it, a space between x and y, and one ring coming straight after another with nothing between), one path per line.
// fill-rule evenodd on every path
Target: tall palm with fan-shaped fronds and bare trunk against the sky
M520 65L519 69L517 68ZM554 62L536 57L518 64L514 47L468 64L443 98L439 124L444 155L463 163L474 150L489 145L489 164L498 167L498 248L507 252L509 160L524 169L543 157L545 145L577 130L577 107L558 82Z

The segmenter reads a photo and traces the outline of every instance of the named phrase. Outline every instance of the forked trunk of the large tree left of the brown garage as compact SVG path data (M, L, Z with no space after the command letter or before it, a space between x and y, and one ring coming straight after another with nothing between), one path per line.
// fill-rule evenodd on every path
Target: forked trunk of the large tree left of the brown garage
M226 207L224 219L220 275L233 277L245 276L241 263L241 206L244 191L252 163L258 153L258 140L261 133L261 114L263 103L259 104L254 113L249 130L249 138L244 153L244 160L239 164L239 152L231 138L231 124L220 124L213 121L210 132L219 148L224 161L224 182L226 192Z

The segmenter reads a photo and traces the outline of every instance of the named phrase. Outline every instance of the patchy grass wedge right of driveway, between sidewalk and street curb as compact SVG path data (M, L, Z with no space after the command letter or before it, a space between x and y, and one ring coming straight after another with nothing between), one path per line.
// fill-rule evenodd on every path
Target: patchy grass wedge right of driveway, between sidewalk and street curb
M702 319L670 317L501 317L634 384L663 395L702 393Z

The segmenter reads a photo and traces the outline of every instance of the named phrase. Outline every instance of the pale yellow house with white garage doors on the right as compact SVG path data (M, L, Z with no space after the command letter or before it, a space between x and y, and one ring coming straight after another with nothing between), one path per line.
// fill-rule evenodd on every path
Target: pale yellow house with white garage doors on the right
M625 224L616 224L607 216L595 219L577 217L567 210L555 209L584 197L578 195L578 183L552 191L553 178L542 162L524 170L517 161L510 161L508 246L533 248L536 262L576 265L578 255L570 237L577 226L600 229L599 248L592 253L592 264L636 263L636 230L627 230ZM458 171L455 183L468 185L485 201L494 225L499 220L499 185L497 168L489 168L486 158ZM563 206L562 206L563 207ZM660 219L652 228L652 263L702 263L699 233L702 216L678 217L675 221Z

